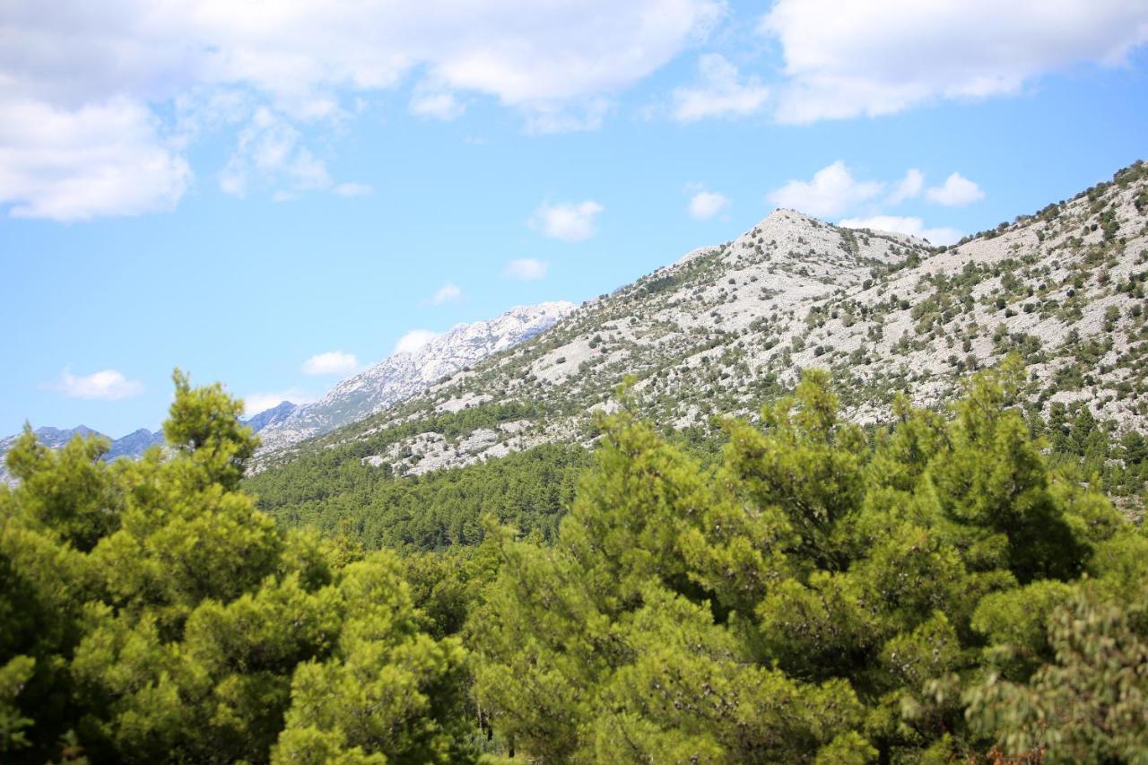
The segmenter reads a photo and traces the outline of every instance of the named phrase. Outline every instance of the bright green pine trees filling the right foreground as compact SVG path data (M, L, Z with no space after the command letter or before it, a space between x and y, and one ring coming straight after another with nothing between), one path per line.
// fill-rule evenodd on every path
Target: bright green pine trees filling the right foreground
M1048 468L1019 374L974 378L951 420L898 401L870 442L809 372L714 468L606 419L557 542L504 531L472 613L495 729L546 762L1127 757L1141 734L1107 726L1142 731L1146 620L1112 615L1143 538ZM1118 604L1081 626L1081 592Z

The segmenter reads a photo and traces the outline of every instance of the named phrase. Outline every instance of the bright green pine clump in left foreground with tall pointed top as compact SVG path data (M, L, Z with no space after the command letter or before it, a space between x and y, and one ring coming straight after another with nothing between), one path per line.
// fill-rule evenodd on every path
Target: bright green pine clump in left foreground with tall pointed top
M174 456L30 433L0 489L0 759L456 762L464 651L402 564L277 530L238 490L257 440L176 373Z

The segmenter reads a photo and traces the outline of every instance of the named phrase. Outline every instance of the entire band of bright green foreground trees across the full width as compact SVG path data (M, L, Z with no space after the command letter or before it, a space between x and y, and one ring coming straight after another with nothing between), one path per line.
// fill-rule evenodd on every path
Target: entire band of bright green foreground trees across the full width
M551 541L396 557L277 527L177 378L171 459L10 453L0 759L1142 762L1148 536L1022 381L867 434L809 372L716 459L623 407Z

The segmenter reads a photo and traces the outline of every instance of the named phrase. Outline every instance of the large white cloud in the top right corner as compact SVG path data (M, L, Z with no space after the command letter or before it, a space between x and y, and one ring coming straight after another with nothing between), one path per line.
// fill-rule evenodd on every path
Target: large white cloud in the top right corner
M1141 0L778 0L761 20L782 48L776 116L882 115L1019 91L1080 62L1120 64L1148 40Z

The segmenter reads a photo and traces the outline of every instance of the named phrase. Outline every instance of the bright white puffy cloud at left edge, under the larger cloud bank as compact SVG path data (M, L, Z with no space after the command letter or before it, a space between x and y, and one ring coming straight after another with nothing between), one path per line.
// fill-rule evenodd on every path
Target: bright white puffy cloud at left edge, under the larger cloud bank
M0 95L0 204L15 217L71 222L170 210L191 180L187 161L139 103L61 108Z

